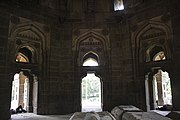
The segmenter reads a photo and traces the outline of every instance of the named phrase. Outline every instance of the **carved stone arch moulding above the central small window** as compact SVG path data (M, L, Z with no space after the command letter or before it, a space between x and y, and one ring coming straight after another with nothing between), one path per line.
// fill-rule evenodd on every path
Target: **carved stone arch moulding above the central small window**
M78 66L82 65L84 56L89 53L98 56L101 65L107 63L108 59L105 58L108 58L110 49L107 36L96 30L76 31L74 34L72 49Z

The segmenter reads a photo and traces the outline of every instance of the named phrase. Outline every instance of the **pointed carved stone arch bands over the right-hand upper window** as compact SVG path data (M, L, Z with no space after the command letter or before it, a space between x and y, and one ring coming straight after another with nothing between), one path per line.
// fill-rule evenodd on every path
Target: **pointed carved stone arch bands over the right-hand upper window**
M151 34L150 34L151 33ZM157 40L153 40L157 38ZM143 62L144 48L148 44L163 44L168 59L171 58L170 40L172 39L172 32L168 25L157 22L148 21L135 33L135 56L139 62ZM148 42L146 42L148 41ZM144 45L142 43L145 43Z

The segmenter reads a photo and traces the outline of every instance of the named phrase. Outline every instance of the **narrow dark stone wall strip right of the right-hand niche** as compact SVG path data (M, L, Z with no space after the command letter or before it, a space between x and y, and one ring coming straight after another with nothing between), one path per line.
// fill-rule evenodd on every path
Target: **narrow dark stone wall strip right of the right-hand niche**
M179 81L179 51L180 51L180 42L179 42L179 34L180 34L180 23L178 22L180 19L180 9L179 9L179 5L180 2L179 1L174 1L171 3L172 7L170 8L171 11L171 19L172 19L172 27L173 27L173 47L172 47L172 57L173 57L173 72L172 72L172 91L173 91L173 106L174 106L174 110L180 110L180 103L178 102L179 99L179 90L180 88L178 87L180 85L180 81ZM171 77L171 76L170 76Z

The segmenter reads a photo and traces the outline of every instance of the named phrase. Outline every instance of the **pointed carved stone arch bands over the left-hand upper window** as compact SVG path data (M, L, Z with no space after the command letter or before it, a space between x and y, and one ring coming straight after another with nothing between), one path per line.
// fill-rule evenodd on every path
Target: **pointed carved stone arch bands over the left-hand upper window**
M40 56L37 59L38 63L42 63L43 56L41 55L46 49L46 39L47 37L40 26L31 21L12 26L9 30L9 54L11 55L9 59L12 59L18 48L30 46L35 50L37 56Z

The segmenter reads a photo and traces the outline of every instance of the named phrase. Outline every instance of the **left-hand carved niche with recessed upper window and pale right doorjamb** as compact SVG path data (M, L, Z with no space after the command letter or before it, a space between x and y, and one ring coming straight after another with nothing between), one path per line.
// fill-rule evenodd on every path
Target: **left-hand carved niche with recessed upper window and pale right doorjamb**
M11 16L8 36L7 73L18 70L33 71L33 73L30 72L32 75L30 75L31 80L29 80L31 82L29 83L31 87L29 111L34 113L44 112L37 108L37 103L41 99L40 96L36 97L38 92L33 93L33 91L38 91L38 87L42 85L43 80L48 79L49 37L48 26L30 19ZM15 58L19 53L26 54L26 57L31 58L28 64L16 62ZM9 74L7 74L8 77ZM8 80L12 80L12 78Z

